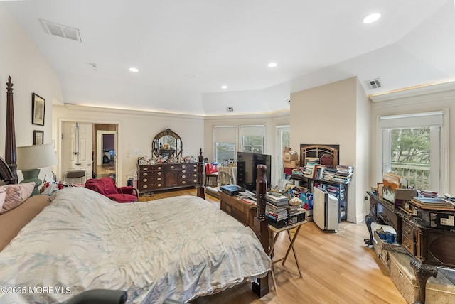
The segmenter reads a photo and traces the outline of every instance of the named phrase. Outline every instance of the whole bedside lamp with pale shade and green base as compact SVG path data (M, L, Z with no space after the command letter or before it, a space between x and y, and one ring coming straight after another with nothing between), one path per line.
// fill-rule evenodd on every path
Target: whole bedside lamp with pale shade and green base
M50 167L57 164L53 144L23 146L17 148L17 170L22 171L21 183L35 182L31 195L40 193L38 187L43 183L38 175L39 168Z

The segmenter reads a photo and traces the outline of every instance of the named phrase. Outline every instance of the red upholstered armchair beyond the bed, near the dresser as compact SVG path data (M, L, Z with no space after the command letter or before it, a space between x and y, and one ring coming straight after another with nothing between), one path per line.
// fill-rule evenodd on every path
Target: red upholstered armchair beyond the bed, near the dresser
M137 202L137 189L131 186L117 187L112 178L90 178L85 182L85 188L96 191L117 202Z

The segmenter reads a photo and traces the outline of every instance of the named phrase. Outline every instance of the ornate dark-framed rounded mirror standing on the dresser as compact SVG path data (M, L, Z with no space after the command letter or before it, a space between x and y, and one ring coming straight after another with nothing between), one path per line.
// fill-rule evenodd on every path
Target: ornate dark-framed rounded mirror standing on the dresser
M182 153L182 140L176 132L166 129L156 134L151 143L151 151L157 158L159 156L177 158Z

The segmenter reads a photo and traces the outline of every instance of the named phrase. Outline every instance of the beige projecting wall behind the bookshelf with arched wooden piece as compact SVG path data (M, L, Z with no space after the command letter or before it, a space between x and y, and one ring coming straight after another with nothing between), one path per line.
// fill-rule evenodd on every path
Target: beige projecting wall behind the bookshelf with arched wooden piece
M357 77L291 94L291 148L299 151L301 143L338 144L339 163L354 167L348 186L350 222L360 222L369 212L363 199L368 190L369 107Z

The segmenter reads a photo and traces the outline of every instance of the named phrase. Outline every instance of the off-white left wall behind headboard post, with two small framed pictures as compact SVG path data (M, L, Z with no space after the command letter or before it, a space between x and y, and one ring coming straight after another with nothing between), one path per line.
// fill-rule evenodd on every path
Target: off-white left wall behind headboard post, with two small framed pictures
M55 70L45 60L16 18L0 3L0 156L4 156L6 82L11 75L14 93L16 146L33 144L33 130L44 131L44 143L52 143L53 100L63 100ZM44 126L31 124L31 94L45 99ZM41 170L43 178L49 170ZM18 174L19 180L22 179Z

